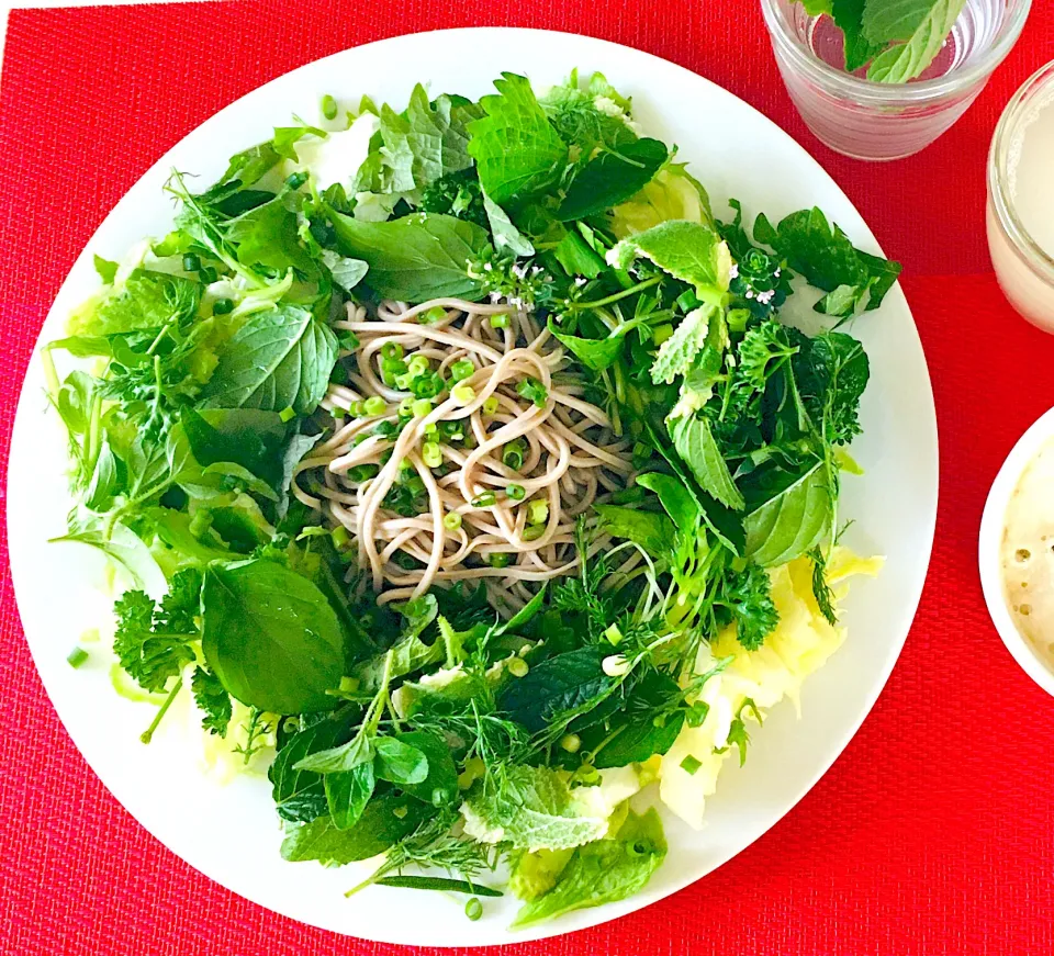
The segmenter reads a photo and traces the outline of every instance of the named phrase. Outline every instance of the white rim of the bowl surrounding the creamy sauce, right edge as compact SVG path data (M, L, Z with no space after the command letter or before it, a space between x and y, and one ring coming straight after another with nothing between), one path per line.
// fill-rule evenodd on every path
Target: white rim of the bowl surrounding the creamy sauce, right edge
M1007 650L1024 673L1054 697L1054 666L1040 655L1032 642L1014 625L1007 607L1000 566L1002 535L1010 496L1036 452L1051 438L1054 438L1054 408L1041 415L1018 439L1018 443L999 469L999 474L991 484L991 491L988 492L985 513L980 519L977 560L980 565L980 586L985 593L988 614L991 615L999 637L1002 638Z

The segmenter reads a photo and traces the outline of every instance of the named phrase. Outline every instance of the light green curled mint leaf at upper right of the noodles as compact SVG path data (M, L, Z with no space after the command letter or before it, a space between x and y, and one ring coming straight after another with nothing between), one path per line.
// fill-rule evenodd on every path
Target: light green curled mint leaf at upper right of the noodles
M687 282L704 302L720 303L728 291L732 258L728 245L718 233L703 223L682 220L629 236L608 254L609 265L628 269L633 259L643 257L674 279Z

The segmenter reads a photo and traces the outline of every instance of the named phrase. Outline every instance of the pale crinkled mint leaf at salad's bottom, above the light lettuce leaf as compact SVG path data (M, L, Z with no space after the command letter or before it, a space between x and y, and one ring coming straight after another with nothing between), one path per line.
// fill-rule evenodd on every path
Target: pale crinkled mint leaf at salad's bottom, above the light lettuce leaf
M573 798L548 767L513 766L485 778L469 791L462 813L469 835L517 850L568 850L607 832L607 818Z

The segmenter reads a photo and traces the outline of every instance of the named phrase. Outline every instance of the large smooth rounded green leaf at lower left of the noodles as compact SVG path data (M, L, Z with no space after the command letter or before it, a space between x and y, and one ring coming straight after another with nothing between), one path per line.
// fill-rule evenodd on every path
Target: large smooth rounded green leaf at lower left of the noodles
M325 596L283 564L212 565L201 595L201 648L233 697L273 713L329 710L344 638Z

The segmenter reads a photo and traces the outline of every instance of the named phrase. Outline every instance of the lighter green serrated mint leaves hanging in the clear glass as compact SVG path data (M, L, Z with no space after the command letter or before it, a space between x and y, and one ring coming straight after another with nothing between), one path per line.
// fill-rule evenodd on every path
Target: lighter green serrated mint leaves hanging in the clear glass
M904 41L875 57L867 79L906 83L924 72L965 5L966 0L866 0L864 37L875 44Z

